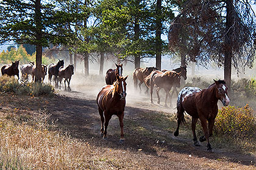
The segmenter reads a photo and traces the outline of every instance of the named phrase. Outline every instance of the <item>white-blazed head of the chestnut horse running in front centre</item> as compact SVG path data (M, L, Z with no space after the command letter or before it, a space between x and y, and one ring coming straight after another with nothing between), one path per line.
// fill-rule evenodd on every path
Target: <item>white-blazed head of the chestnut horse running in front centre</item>
M121 99L126 98L126 77L119 77L116 75L116 82L113 84L115 86L115 92L120 95Z

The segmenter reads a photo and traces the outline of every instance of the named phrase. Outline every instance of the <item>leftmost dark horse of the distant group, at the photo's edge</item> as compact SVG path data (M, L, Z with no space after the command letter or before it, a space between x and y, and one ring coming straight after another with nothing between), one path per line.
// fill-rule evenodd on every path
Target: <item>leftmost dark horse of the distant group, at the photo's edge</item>
M18 77L18 80L20 79L19 77L19 62L20 60L18 61L14 61L12 62L12 64L5 64L4 66L2 66L1 68L1 72L2 72L2 75L9 75L9 76L17 76Z

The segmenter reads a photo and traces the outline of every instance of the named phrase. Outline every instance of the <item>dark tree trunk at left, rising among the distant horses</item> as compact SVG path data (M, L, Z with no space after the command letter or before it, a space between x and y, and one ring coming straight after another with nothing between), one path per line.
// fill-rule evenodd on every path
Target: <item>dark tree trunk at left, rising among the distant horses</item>
M41 0L35 1L35 27L36 27L36 35L35 38L37 39L37 46L36 46L36 55L35 55L35 82L41 82L40 78L40 67L42 64L42 52L43 52L43 46L41 45L41 38L43 25L41 21Z

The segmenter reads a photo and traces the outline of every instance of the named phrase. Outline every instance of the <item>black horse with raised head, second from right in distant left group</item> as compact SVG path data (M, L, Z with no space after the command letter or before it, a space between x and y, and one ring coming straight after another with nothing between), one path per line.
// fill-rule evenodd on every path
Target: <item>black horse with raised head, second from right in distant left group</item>
M59 60L57 64L51 63L48 67L48 81L51 84L52 75L54 75L55 87L58 87L58 75L60 67L64 66L64 60Z

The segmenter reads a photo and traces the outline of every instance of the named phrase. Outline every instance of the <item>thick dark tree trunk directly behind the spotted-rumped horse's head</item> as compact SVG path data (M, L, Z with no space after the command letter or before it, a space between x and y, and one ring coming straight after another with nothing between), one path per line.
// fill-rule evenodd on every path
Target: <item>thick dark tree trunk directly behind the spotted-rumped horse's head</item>
M231 68L232 68L232 35L233 35L233 0L227 0L227 17L226 17L226 35L225 35L225 46L224 46L224 79L227 87L231 86Z

